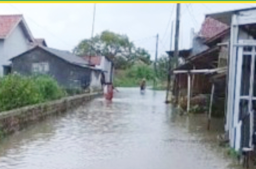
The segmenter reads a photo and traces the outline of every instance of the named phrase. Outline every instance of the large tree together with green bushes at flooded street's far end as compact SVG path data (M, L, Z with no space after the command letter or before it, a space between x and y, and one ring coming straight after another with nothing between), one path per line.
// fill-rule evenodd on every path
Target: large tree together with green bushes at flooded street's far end
M105 30L95 37L82 40L73 52L78 56L102 55L112 59L116 69L115 86L138 87L142 79L146 78L147 86L153 86L155 80L157 85L153 89L166 89L168 56L159 57L155 74L149 52L136 47L127 35Z

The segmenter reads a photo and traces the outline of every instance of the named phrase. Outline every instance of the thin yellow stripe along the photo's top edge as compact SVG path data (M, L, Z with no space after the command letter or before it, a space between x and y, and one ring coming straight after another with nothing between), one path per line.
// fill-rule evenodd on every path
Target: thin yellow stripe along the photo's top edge
M0 3L256 3L256 1L1 1Z

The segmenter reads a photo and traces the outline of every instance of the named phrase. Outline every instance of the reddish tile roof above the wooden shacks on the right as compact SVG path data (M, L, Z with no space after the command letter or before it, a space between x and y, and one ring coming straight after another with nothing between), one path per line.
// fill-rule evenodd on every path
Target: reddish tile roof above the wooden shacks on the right
M205 37L206 39L212 38L215 35L223 32L224 30L229 29L229 26L219 22L211 17L207 17L199 31L199 35Z

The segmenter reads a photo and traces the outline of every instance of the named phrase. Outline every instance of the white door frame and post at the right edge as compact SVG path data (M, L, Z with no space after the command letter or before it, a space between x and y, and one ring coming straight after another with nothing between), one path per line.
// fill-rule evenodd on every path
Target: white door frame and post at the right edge
M251 47L251 51L244 51L244 47ZM252 135L253 135L253 127L254 127L254 111L252 109L252 101L256 100L256 97L253 95L253 84L254 84L254 72L255 72L255 59L256 59L256 40L239 40L238 43L233 45L234 48L237 48L238 52L234 59L236 62L232 65L233 73L235 73L235 79L233 79L234 85L234 98L233 98L233 140L231 139L231 145L236 150L239 150L241 138L239 136L241 133L236 134L236 132L240 131L240 122L239 122L239 111L240 111L240 100L247 100L248 101L248 111L250 115L250 139L249 139L249 146L252 147ZM249 80L249 93L248 95L241 95L241 80L242 80L242 62L244 57L251 56L251 67L250 67L250 80ZM230 81L232 82L232 81ZM239 142L239 143L237 143Z

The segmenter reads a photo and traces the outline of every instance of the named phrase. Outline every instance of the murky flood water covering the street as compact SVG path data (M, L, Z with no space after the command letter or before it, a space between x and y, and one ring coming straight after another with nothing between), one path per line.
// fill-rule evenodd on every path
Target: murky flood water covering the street
M7 169L226 169L217 144L223 122L180 116L164 91L118 88L112 102L96 98L38 122L0 142Z

